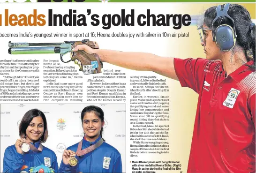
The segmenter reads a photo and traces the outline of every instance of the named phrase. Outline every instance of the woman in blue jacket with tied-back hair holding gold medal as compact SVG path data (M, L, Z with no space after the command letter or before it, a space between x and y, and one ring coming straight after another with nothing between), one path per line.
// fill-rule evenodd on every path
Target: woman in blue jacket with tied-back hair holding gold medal
M81 113L84 137L64 150L60 173L122 173L118 150L102 138L104 112L97 106L87 106Z

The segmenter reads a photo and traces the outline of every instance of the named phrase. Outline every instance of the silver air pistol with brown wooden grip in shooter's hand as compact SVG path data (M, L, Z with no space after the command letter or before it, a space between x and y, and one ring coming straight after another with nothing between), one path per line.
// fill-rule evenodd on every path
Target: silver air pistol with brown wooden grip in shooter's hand
M71 60L78 64L80 71L84 74L101 73L103 68L102 62L99 60L97 54L88 54L82 50L72 52L72 48L76 45L86 44L91 48L98 49L97 42L89 41L89 39L83 39L82 41L65 41L64 43L11 43L9 42L8 53L9 54L39 54L39 53L59 53L60 60L62 62L69 62ZM71 60L64 61L63 55L70 54Z

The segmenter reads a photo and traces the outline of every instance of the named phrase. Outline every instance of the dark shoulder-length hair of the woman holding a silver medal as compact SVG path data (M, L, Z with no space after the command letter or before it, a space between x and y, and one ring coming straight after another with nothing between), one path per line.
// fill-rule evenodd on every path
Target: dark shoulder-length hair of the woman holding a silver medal
M30 125L30 122L33 120L34 117L42 117L44 121L44 134L42 135L41 142L45 143L48 137L48 128L47 128L47 121L45 118L45 114L42 111L39 111L38 109L31 109L28 112L26 112L21 120L20 128L19 128L19 134L20 137L23 138L26 136L26 130L28 126Z

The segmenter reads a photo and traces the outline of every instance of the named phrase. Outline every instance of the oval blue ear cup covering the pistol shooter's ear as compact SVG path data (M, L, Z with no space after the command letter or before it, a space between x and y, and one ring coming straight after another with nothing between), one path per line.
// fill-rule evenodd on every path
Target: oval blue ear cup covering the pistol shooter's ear
M229 51L233 49L236 39L231 26L220 25L216 28L214 33L216 44L222 51Z

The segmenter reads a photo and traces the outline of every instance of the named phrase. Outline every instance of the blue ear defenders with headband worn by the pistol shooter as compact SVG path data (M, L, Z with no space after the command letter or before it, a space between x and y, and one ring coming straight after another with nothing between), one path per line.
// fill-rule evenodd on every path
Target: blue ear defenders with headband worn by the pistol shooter
M221 9L221 5L218 5L218 7L216 8L217 15L211 23L213 41L216 42L217 46L222 51L231 50L234 47L235 41L236 41L234 20L227 14L227 11L229 9L229 5L230 5L230 3L225 4L223 9ZM233 22L233 27L231 27L229 25L226 25L226 24L222 24L222 25L219 25L216 28L216 30L213 30L213 24L221 16L228 17Z

